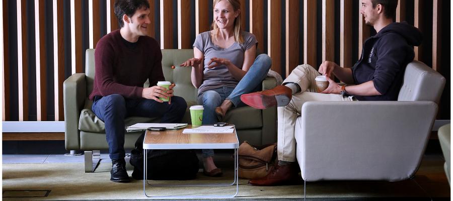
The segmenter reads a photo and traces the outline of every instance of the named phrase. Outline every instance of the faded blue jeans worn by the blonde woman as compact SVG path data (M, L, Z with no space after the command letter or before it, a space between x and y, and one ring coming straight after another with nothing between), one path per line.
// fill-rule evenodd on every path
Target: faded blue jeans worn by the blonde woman
M236 87L220 86L201 92L198 95L198 104L203 105L204 108L202 124L214 124L218 121L215 108L219 107L225 99L229 99L236 108L245 106L241 102L241 95L261 89L261 82L269 72L271 64L267 54L260 54ZM209 157L214 155L214 150L203 149L202 153L203 157Z

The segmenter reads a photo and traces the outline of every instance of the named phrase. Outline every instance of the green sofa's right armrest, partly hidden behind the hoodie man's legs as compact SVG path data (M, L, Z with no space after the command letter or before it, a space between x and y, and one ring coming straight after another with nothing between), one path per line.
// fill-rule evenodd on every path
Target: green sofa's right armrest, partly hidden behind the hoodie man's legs
M263 90L277 86L277 80L273 77L266 77L262 82ZM262 111L263 129L261 144L277 142L277 107L270 107Z

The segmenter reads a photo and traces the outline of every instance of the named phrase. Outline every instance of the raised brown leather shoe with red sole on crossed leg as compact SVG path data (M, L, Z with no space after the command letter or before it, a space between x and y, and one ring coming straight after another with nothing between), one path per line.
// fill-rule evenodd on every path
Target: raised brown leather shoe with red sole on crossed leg
M272 89L242 94L241 100L253 108L266 109L272 106L286 106L291 97L292 91L289 87L278 85Z

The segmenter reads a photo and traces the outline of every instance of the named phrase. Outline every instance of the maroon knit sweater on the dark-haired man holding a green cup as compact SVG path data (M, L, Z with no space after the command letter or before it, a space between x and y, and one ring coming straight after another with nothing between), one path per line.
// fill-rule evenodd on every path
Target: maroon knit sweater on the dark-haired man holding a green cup
M154 38L140 36L134 48L127 47L119 29L99 40L95 50L94 96L121 94L126 98L139 98L143 83L149 85L164 81L162 52Z

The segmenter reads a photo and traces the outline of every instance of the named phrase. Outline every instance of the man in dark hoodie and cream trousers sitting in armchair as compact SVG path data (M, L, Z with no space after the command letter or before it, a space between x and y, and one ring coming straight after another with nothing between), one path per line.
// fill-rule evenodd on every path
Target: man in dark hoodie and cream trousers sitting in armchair
M250 184L272 186L299 180L294 163L294 126L305 102L397 100L406 65L414 59L413 46L422 40L417 28L393 22L397 5L395 0L361 0L360 13L377 34L365 41L360 60L352 68L325 61L318 72L310 65L299 65L283 85L241 96L245 104L254 108L278 106L278 164L265 177L250 180ZM329 86L317 93L314 83L320 73L327 77ZM339 85L331 74L353 85Z

